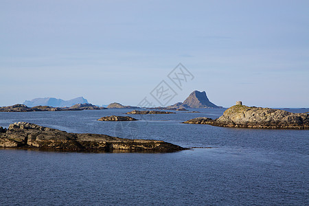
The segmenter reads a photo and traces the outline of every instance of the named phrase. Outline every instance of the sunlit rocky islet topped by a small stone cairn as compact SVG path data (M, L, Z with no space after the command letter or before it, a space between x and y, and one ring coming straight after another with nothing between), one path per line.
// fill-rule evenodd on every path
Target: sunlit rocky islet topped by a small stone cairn
M183 123L241 128L309 129L309 114L290 113L273 108L235 105L228 108L218 119L198 117Z

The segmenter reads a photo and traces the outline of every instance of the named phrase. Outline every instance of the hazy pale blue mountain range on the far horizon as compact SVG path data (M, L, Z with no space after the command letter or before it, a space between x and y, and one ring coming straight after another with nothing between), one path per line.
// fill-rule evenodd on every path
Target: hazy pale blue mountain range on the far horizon
M56 98L36 98L33 100L26 100L23 102L26 106L32 107L32 106L53 106L53 107L70 107L75 104L84 104L84 103L89 103L86 99L80 97L80 98L75 98L72 100L61 100L61 99L56 99Z

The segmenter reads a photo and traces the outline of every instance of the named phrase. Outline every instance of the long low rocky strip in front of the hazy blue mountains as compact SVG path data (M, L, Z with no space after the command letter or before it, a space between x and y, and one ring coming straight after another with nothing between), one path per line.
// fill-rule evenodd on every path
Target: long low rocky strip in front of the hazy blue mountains
M81 110L97 110L104 107L95 106L93 104L75 104L71 107L52 107L52 106L34 106L27 107L25 104L15 104L13 106L2 106L0 112L30 112L30 111L81 111Z

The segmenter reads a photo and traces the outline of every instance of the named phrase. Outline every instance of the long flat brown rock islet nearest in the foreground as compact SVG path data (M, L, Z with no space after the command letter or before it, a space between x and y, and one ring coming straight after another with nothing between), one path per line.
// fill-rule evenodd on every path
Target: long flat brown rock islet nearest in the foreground
M8 129L0 127L0 147L73 152L175 152L186 149L165 141L67 133L27 122L10 124Z

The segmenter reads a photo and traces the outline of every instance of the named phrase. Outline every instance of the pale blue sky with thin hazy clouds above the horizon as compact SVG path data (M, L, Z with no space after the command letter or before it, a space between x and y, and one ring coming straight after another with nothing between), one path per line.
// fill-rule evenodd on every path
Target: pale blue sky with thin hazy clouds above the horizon
M0 106L137 105L162 80L229 107L309 107L309 1L0 0ZM192 78L168 78L181 63Z

